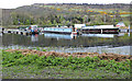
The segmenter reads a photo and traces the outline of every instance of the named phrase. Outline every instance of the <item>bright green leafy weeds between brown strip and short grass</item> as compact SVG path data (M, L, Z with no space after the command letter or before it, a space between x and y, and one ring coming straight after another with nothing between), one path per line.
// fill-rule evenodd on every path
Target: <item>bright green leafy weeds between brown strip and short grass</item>
M117 62L114 60L101 60L98 57L55 57L55 56L41 56L37 55L22 55L20 51L15 53L2 53L2 66L10 68L14 66L32 66L34 65L35 69L43 69L45 67L59 67L61 70L70 69L73 71L84 70L84 71L95 71L100 70L105 73L113 72L117 74L129 74L130 72L130 60ZM30 68L32 69L32 68ZM98 72L97 72L98 73ZM108 77L108 76L107 76ZM97 74L96 78L107 78L106 76ZM129 78L129 76L127 76Z

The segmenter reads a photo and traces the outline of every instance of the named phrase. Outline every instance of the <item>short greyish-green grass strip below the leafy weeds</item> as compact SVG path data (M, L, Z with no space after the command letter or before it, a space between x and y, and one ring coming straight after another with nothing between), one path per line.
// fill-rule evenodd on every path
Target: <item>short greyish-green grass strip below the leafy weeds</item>
M32 68L32 69L31 69ZM3 79L127 79L129 73L118 74L112 71L100 69L73 70L61 67L44 67L37 69L35 66L13 66L4 68Z

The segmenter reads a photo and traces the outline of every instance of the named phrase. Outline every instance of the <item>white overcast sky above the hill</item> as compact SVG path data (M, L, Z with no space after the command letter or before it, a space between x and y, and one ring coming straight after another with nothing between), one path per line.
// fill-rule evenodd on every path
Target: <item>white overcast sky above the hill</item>
M0 0L0 8L14 9L33 3L130 3L131 0Z

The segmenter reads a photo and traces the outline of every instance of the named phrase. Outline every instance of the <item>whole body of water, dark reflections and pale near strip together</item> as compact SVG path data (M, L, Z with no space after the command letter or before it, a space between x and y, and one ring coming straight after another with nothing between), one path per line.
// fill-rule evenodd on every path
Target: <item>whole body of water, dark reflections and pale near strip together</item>
M25 48L41 47L59 53L114 53L130 54L131 37L129 33L82 34L78 36L63 34L18 35L2 34L2 47Z

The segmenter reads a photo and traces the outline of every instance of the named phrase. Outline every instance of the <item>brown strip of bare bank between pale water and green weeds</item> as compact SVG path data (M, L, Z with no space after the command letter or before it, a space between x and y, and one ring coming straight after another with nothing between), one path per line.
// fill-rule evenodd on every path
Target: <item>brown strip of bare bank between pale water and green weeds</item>
M132 60L132 56L130 55L119 55L119 54L98 54L98 53L56 53L56 51L40 51L40 50L34 50L34 49L7 49L6 51L21 51L22 55L35 55L37 54L38 56L55 56L55 57L99 57L100 59L105 59L105 60L112 60L114 59L116 61L122 61L122 60L127 60L127 59L131 59Z

